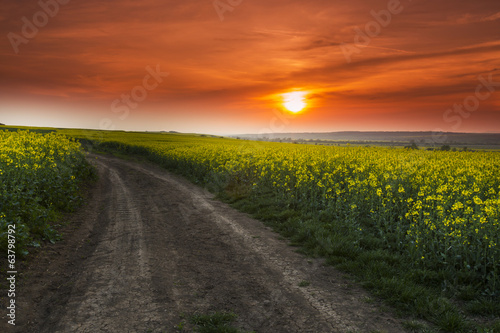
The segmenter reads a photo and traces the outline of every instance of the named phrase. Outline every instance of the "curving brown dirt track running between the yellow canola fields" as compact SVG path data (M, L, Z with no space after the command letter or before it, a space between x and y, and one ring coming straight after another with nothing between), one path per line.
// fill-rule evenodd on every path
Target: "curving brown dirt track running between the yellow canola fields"
M76 227L25 268L17 325L4 317L0 329L177 332L183 313L227 310L259 333L404 331L340 273L199 187L91 158L100 180L70 217Z

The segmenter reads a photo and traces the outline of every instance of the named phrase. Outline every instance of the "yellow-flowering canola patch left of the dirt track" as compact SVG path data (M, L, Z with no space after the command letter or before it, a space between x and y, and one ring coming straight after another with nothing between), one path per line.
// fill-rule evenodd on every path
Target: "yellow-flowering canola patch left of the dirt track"
M0 248L15 225L15 249L26 254L40 240L56 241L52 222L81 200L79 185L92 175L81 146L57 133L0 131Z

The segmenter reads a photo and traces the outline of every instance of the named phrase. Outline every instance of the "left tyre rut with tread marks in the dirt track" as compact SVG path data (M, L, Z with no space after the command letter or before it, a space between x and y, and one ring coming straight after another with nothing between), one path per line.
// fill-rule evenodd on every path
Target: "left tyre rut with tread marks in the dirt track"
M139 332L160 317L147 281L143 220L120 175L106 208L108 228L76 282L66 313L47 332ZM84 290L82 292L81 290Z

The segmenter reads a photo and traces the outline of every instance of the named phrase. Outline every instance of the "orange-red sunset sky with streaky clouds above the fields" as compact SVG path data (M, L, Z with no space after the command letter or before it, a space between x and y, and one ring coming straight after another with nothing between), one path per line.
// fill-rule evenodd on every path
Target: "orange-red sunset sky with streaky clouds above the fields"
M500 132L498 0L2 0L1 8L8 125ZM299 112L287 110L290 94L305 106Z

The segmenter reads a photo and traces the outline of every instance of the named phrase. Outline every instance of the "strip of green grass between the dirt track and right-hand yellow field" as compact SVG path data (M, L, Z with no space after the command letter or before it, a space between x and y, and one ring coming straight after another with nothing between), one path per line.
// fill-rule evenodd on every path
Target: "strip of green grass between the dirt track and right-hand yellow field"
M272 195L241 198L225 192L219 198L263 221L300 247L299 252L324 257L349 273L399 316L410 318L405 326L411 331L500 333L500 304L494 298L479 295L471 286L448 287L442 283L450 278L445 273L413 267L385 247L373 230L359 238L328 212L288 207Z

